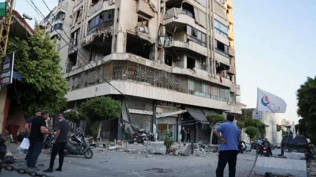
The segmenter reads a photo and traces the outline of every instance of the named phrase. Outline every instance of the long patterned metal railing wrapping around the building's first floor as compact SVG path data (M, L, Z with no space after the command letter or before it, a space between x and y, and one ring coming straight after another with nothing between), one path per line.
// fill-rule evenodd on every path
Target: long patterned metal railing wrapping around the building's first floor
M221 101L230 100L229 88L126 60L113 60L67 79L69 91L105 83L106 80L129 81Z

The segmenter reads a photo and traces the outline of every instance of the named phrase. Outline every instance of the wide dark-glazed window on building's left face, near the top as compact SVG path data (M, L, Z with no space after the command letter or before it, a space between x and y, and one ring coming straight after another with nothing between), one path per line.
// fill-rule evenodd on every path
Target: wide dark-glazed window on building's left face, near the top
M88 34L95 30L103 22L109 22L114 20L114 9L106 10L92 18L88 22Z

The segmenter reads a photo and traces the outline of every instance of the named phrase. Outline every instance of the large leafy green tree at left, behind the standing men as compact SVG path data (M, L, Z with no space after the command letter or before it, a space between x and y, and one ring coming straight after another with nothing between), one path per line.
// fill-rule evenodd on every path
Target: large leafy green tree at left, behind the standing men
M60 72L60 56L56 51L56 40L39 26L27 40L10 38L7 53L15 53L14 71L22 75L24 82L14 81L10 89L10 111L22 111L33 116L38 109L51 113L65 109L68 91L66 80Z

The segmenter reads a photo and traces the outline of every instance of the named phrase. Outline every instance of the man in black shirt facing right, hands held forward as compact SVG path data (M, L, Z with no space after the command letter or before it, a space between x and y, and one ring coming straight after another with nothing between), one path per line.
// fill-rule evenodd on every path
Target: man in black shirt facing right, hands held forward
M44 146L44 135L52 135L52 132L46 130L46 121L49 112L43 110L41 115L33 118L30 123L30 147L28 150L28 158L26 163L26 168L29 171L39 171L35 164L40 156L41 149Z

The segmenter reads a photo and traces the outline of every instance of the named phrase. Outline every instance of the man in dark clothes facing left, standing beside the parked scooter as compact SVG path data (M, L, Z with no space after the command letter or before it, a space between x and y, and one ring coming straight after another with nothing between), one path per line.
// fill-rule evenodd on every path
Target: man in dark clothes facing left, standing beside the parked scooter
M69 123L65 119L65 114L61 113L58 116L59 123L58 123L58 128L57 128L57 133L54 138L54 145L50 154L50 163L49 163L49 168L47 170L44 170L44 173L52 173L53 172L53 166L54 166L54 161L56 158L56 155L58 153L59 155L59 166L56 169L56 171L61 172L62 171L62 166L63 166L63 161L64 161L64 149L67 144L67 135L69 131Z

